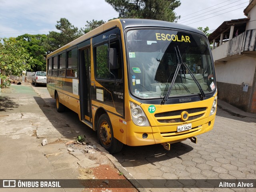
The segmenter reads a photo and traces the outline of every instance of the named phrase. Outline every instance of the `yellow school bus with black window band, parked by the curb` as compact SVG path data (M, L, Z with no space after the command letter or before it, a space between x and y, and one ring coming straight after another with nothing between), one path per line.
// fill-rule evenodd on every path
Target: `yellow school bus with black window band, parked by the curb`
M76 112L110 153L196 143L216 116L206 35L165 21L112 20L48 54L47 88L57 111Z

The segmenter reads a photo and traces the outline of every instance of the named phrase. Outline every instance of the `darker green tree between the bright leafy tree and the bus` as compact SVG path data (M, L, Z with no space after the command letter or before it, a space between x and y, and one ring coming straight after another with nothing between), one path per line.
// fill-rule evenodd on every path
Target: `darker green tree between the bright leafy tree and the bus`
M30 35L24 34L18 36L17 40L22 40L22 46L28 51L30 57L32 57L34 66L33 71L46 71L46 55L47 51L44 46L44 40L46 35Z

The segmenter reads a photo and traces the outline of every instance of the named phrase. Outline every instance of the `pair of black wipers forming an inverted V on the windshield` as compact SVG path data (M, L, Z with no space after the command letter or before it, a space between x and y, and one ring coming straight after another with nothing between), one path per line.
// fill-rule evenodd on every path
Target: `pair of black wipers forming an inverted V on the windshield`
M200 84L198 83L198 80L196 80L195 76L193 75L193 73L191 72L191 70L188 68L187 64L182 62L182 57L181 57L181 55L180 55L180 50L179 50L178 46L177 46L177 49L176 49L176 47L174 47L174 49L175 49L175 52L176 52L176 56L177 56L177 60L178 60L178 65L177 65L177 68L176 68L176 70L175 70L174 77L172 78L171 85L170 85L170 87L168 88L168 91L167 91L166 95L165 95L164 98L162 99L161 104L164 104L164 103L167 101L168 97L170 96L170 93L171 93L171 91L172 91L172 87L173 87L173 85L174 85L174 82L175 82L175 80L176 80L176 78L177 78L178 72L181 72L181 71L180 71L180 67L181 67L181 66L184 66L184 67L186 68L186 70L188 70L188 72L189 72L189 74L191 75L192 79L196 82L196 85L198 86L198 88L199 88L199 90L200 90L200 93L198 94L199 98L200 98L200 99L204 99L204 98L206 97L206 95L205 95L204 91L202 90L202 87L201 87ZM177 50L178 50L178 51L177 51ZM178 53L179 53L179 54L178 54ZM184 77L186 78L185 74L184 74ZM182 76L181 76L181 78L182 78Z

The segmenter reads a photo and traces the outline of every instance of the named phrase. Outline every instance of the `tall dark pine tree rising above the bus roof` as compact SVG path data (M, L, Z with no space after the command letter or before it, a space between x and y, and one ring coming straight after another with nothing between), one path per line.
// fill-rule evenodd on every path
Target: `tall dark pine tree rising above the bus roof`
M144 18L177 22L174 9L180 6L179 0L105 0L120 18Z

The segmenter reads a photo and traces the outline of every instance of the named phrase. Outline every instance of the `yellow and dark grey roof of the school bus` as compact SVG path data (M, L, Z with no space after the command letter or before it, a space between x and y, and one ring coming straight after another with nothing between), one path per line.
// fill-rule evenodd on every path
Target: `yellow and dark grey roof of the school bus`
M192 27L189 27L186 25L177 24L177 23L173 23L173 22L151 20L151 19L114 19L109 22L106 22L105 24L102 24L101 26L84 34L83 36L77 38L76 40L73 40L72 42L64 45L63 47L59 48L58 50L55 50L54 52L48 54L47 57L53 56L59 52L62 52L68 48L71 48L72 46L79 44L80 42L83 42L84 40L88 40L89 38L96 36L104 31L107 31L114 26L118 26L118 25L120 26L120 24L122 25L123 30L125 30L126 28L132 28L132 27L161 27L161 28L169 28L169 29L177 29L177 30L186 30L186 31L201 34L206 37L204 32L202 32L196 28L192 28Z

